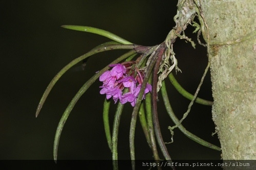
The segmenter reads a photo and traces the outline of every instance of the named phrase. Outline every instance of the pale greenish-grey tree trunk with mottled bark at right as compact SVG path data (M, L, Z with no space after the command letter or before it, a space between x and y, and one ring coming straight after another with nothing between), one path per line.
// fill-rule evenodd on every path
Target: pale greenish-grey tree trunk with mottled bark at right
M195 2L209 31L208 41L202 28L209 42L212 119L222 158L256 160L256 1ZM230 169L236 168L241 167Z

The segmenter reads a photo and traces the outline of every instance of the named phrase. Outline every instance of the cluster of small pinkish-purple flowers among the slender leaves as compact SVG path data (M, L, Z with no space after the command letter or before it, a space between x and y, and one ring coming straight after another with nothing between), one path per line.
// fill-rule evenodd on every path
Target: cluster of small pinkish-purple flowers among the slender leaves
M105 71L100 77L99 81L103 82L100 94L106 94L106 99L113 97L115 103L119 100L121 104L130 102L134 107L140 92L141 84L143 82L143 74L138 69L131 69L131 62L122 64L112 64L111 70ZM129 91L122 94L122 90L128 88ZM143 99L145 94L152 91L152 86L146 84Z

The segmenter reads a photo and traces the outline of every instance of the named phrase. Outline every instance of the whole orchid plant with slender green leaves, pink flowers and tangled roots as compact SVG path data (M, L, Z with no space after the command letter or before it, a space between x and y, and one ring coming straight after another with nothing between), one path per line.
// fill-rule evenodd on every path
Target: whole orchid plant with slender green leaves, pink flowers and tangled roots
M175 58L175 53L173 51L173 45L176 38L186 39L191 42L191 45L195 46L195 43L185 36L184 30L188 24L190 24L194 17L198 16L200 24L204 25L202 16L199 13L200 4L197 1L179 1L177 15L174 17L176 22L176 27L174 27L166 39L158 45L155 46L144 46L131 43L113 33L104 31L101 29L87 27L87 26L62 26L66 29L89 32L98 34L104 37L110 38L112 41L103 43L90 52L74 59L68 65L63 67L58 74L53 78L53 80L48 85L46 91L42 95L42 98L39 102L39 105L36 110L36 117L38 116L42 105L45 103L48 94L51 89L58 81L58 79L65 74L65 72L70 69L72 66L78 62L94 55L97 53L110 51L110 50L120 50L126 49L130 50L129 52L121 55L112 63L106 65L100 71L90 78L76 93L69 106L63 113L60 122L58 124L55 139L54 139L54 160L57 160L57 149L60 139L60 134L65 125L65 122L72 111L74 105L79 100L81 95L88 90L88 88L99 79L102 82L102 86L99 87L99 93L106 95L106 99L103 103L103 123L105 128L106 139L109 144L109 148L112 152L112 159L118 160L118 151L117 151L117 141L118 141L118 129L120 123L120 117L123 110L123 105L125 103L131 103L134 107L132 112L131 127L130 127L130 151L131 151L131 160L132 167L135 169L135 148L134 148L134 136L135 136L135 125L139 114L139 119L141 126L143 128L145 138L149 144L154 159L159 163L160 157L158 155L157 143L161 149L161 153L168 162L172 162L172 159L169 156L169 153L166 149L164 140L161 135L161 130L158 121L158 112L157 112L157 101L158 93L161 92L163 96L163 102L166 107L167 114L175 123L174 127L168 127L172 132L175 128L178 128L182 133L184 133L188 138L204 145L205 147L218 150L220 148L214 144L211 144L198 136L190 133L182 126L182 121L185 119L189 113L191 106L194 102L197 102L202 105L211 106L213 102L203 100L197 97L197 94L200 90L200 87L203 83L206 72L209 68L209 63L205 69L204 75L202 76L201 82L196 90L196 93L190 94L175 79L172 71L180 71L178 68L178 62ZM199 24L196 31L198 34L201 33ZM201 42L199 41L201 44ZM204 44L203 44L204 45ZM179 120L170 106L168 99L168 94L165 87L165 79L168 78L169 81L174 85L174 87L187 99L191 100L187 111L183 114L181 120ZM111 103L111 98L114 103L118 103L115 118L113 122L112 135L111 128L109 124L109 108ZM145 100L144 100L145 99ZM144 110L145 109L145 110ZM157 142L156 142L157 141ZM114 169L118 169L117 161L113 161ZM158 167L161 169L161 167ZM175 167L172 167L175 169Z

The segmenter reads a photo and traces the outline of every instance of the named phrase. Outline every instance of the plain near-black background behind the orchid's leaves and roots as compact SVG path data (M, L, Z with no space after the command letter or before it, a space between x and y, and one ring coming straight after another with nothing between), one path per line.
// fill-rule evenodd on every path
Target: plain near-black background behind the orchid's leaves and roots
M164 41L175 26L177 1L1 1L1 85L0 85L0 159L53 159L53 140L59 119L79 88L97 70L125 51L105 52L88 60L84 71L68 71L51 91L37 118L35 111L42 93L57 72L70 61L87 53L107 38L63 29L61 25L84 25L108 30L136 44L155 45ZM191 26L186 35L193 37ZM196 41L197 43L197 41ZM207 65L206 48L194 50L184 40L177 40L174 51L182 70L176 75L180 84L194 93ZM80 66L80 63L77 65ZM74 69L73 69L74 70ZM189 101L168 82L169 98L181 118ZM104 95L100 82L82 96L63 128L58 159L111 159L102 122ZM164 141L171 140L168 126L173 126L159 95L159 119ZM212 100L208 72L199 97ZM111 105L113 121L116 105ZM119 159L130 159L129 129L132 107L122 114L118 150ZM138 120L139 121L139 120ZM211 136L215 126L211 107L194 104L184 120L185 128L219 145ZM137 124L135 152L137 159L152 159L141 127ZM221 152L190 140L178 129L174 143L167 144L173 159L220 159ZM160 152L160 150L159 150ZM161 158L163 158L161 156Z

